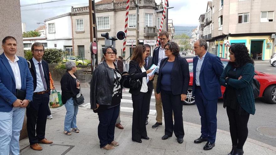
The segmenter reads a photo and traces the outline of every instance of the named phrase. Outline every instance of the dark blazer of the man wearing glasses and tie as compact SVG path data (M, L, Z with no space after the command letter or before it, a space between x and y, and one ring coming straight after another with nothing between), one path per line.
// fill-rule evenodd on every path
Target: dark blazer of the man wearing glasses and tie
M31 64L30 72L31 72L31 75L34 79L33 82L34 82L34 90L35 90L36 89L36 70L35 70L33 59L29 59L29 62ZM45 60L42 60L41 64L42 64L42 68L43 68L43 72L44 72L44 78L45 78L45 81L46 81L47 90L50 90L50 74L49 74L48 63Z

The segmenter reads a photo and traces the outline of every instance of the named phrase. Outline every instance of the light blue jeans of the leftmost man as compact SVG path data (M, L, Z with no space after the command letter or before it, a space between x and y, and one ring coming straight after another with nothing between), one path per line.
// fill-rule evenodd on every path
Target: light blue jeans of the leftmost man
M13 107L9 112L0 112L0 152L4 155L19 155L19 136L25 108Z

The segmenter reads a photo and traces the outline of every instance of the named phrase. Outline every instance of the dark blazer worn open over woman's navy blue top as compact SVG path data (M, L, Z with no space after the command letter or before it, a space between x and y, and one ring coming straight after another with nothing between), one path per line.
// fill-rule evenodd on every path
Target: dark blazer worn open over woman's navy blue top
M156 92L160 93L161 91L161 79L162 79L162 68L166 64L168 58L161 60L158 79L157 79L157 88ZM186 94L188 91L190 81L189 65L185 58L176 56L173 63L173 70L171 73L171 89L173 95Z

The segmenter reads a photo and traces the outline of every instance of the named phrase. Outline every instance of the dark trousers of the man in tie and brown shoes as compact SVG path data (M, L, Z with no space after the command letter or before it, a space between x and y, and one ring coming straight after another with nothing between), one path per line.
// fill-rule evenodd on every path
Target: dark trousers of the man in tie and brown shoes
M49 92L45 94L34 94L33 101L29 103L29 108L26 108L27 131L30 145L38 143L38 141L45 138L49 96Z

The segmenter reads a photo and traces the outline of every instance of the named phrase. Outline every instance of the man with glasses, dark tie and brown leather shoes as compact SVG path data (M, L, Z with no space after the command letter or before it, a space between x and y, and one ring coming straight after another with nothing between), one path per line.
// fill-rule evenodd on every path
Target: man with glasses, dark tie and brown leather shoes
M48 104L50 100L50 75L48 63L42 60L44 54L43 44L35 42L31 50L33 58L29 61L31 64L30 72L34 79L34 95L26 111L27 131L30 147L34 150L42 150L42 147L38 143L53 143L45 138Z

